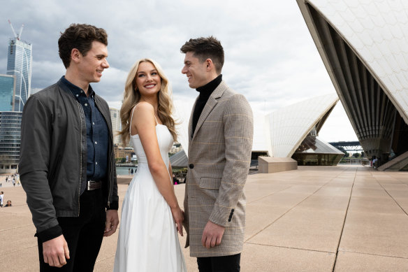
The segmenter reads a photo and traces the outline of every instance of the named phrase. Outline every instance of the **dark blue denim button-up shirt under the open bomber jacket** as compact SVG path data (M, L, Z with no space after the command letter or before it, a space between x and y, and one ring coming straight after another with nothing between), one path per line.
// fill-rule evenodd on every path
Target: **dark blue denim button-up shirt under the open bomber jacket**
M103 115L95 105L95 92L89 85L87 96L84 90L70 83L64 76L61 82L71 90L84 109L87 127L87 180L101 180L105 178L108 169L109 130ZM81 185L80 193L84 191L85 185Z

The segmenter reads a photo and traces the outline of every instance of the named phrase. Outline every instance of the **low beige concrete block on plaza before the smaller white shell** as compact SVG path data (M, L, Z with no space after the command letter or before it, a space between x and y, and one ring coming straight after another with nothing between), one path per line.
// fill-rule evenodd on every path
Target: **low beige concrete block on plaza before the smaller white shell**
M259 173L276 173L289 170L297 170L298 162L287 157L258 157Z

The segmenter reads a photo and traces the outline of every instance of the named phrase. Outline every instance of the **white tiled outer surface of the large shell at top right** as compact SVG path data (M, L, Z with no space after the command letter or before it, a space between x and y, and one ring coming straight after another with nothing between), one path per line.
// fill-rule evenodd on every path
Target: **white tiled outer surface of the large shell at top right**
M336 29L408 123L408 1L297 1L311 31L305 3ZM312 31L316 42L315 35ZM316 45L321 47L319 42ZM325 57L323 61L326 62Z

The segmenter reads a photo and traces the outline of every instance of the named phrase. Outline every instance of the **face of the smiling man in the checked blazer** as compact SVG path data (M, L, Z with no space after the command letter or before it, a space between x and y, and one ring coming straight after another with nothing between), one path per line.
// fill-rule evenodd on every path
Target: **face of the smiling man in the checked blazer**
M207 84L209 80L207 80L207 63L201 63L200 59L193 55L194 52L186 53L182 73L189 79L189 86L193 89L197 89Z

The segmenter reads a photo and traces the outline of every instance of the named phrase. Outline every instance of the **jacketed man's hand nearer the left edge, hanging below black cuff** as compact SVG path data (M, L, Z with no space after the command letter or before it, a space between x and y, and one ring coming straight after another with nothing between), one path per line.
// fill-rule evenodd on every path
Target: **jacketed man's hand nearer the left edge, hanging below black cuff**
M68 244L63 235L43 243L43 257L45 264L62 267L69 259Z

